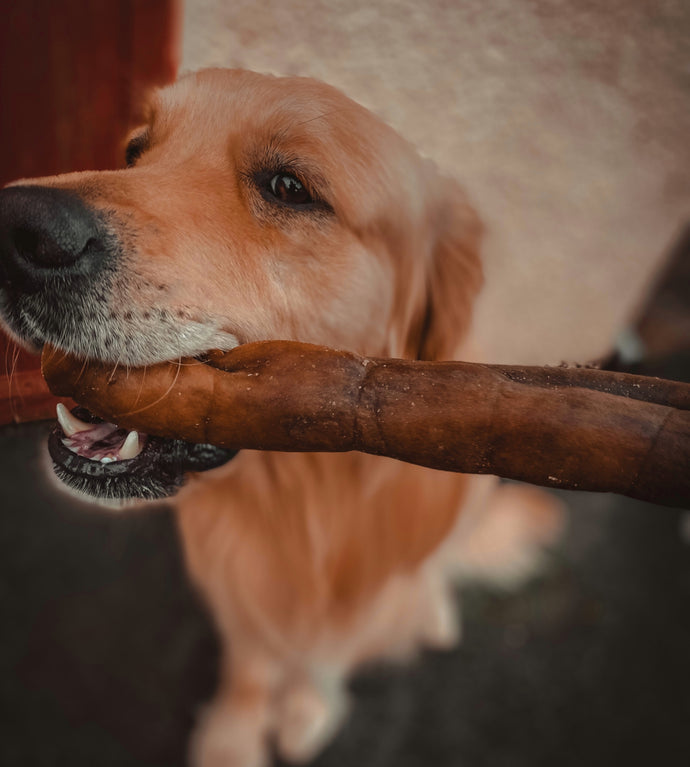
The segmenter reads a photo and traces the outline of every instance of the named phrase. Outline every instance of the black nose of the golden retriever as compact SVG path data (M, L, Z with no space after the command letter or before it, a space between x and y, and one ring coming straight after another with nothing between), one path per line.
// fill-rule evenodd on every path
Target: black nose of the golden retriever
M86 266L103 251L96 211L74 192L44 186L0 191L0 268L35 281Z

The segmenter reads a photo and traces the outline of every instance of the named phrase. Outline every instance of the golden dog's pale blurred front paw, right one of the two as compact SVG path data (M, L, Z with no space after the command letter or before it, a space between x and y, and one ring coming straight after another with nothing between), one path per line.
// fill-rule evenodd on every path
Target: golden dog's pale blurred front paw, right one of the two
M277 717L278 750L286 759L310 761L345 719L349 698L343 674L319 669L291 679L281 695Z

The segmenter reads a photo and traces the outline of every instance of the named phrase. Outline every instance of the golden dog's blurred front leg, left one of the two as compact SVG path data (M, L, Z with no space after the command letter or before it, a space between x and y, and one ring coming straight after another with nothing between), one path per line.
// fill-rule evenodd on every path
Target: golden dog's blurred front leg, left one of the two
M268 734L280 668L270 657L226 650L219 689L191 744L193 767L267 767Z

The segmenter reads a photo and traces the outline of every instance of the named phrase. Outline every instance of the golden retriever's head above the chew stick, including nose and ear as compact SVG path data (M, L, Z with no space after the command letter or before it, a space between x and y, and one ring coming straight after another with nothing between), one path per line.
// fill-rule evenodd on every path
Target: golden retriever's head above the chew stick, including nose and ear
M456 352L477 220L333 88L192 74L153 95L126 157L0 192L0 312L20 342L126 365L272 338Z

